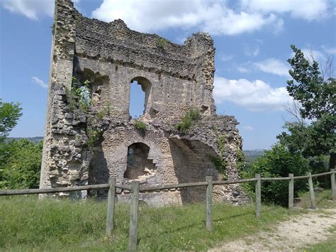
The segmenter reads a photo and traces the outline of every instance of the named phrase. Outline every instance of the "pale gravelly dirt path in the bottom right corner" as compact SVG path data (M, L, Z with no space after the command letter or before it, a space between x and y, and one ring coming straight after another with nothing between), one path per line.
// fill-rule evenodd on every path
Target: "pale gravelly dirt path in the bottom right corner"
M231 241L210 251L293 251L325 241L336 225L336 209L310 212L281 222L272 231L262 231L245 239Z

